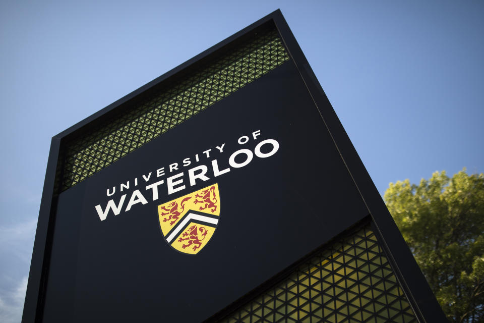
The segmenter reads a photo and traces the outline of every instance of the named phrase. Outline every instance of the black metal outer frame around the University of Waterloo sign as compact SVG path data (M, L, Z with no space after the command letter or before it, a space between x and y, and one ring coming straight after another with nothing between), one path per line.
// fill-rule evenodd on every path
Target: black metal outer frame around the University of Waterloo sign
M335 146L341 154L346 168L353 179L354 185L357 187L361 198L366 204L373 225L376 229L376 233L378 233L393 270L413 307L415 315L420 322L445 321L442 309L437 303L435 296L430 290L425 277L423 277L408 246L403 240L403 237L395 225L385 203L332 109L328 98L306 60L306 57L302 53L302 50L297 44L297 41L281 12L276 10L52 138L22 317L23 323L42 321L50 251L52 247L52 235L55 223L57 192L54 191L54 182L61 144L88 130L94 123L99 122L99 120L104 120L111 115L114 110L124 109L128 103L133 102L140 96L145 96L153 87L160 86L164 82L169 82L175 78L177 74L193 68L201 61L207 60L209 57L216 55L216 52L223 50L224 47L233 45L233 42L237 41L239 38L245 38L258 28L270 23L274 23L276 26L290 58L298 69L302 80L305 82L315 105L318 107L321 118L331 134Z

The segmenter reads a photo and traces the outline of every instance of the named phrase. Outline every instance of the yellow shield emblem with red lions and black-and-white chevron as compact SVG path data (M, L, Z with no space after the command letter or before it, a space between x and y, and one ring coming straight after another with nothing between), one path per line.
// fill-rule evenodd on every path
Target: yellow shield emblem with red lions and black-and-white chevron
M218 184L158 205L166 243L183 253L197 254L212 238L220 219Z

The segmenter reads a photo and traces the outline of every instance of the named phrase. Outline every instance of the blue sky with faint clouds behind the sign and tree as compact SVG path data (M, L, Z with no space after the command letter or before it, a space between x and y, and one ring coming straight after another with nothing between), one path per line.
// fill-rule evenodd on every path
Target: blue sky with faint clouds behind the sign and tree
M0 2L0 321L20 321L50 138L280 8L381 194L484 172L484 2Z

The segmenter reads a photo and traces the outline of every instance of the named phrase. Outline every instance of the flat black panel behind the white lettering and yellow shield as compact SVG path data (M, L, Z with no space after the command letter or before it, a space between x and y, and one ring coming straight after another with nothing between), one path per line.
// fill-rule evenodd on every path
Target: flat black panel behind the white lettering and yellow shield
M158 206L213 184L209 243L170 247ZM59 196L44 319L198 322L367 215L289 61Z

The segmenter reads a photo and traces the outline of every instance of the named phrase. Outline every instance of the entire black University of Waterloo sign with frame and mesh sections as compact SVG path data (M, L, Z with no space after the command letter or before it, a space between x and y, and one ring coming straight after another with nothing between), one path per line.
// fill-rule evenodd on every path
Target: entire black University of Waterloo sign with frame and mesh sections
M279 11L52 138L24 323L443 319Z

